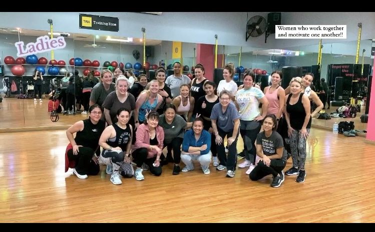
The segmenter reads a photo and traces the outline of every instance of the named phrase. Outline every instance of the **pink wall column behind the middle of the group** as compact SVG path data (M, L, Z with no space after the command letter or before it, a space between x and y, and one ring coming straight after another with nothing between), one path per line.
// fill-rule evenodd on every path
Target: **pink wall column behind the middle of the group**
M197 43L197 62L204 66L204 76L208 80L213 80L213 73L215 68L215 54L213 44ZM219 64L218 64L219 67Z

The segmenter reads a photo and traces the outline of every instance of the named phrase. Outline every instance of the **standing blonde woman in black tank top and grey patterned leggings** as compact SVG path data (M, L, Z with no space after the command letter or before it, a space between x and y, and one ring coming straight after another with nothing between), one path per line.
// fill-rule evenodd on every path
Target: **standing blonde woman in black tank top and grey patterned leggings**
M306 139L310 132L311 114L310 101L301 92L301 78L294 77L290 81L290 94L285 97L285 119L288 125L290 150L293 166L285 172L287 175L296 175L296 182L305 180Z

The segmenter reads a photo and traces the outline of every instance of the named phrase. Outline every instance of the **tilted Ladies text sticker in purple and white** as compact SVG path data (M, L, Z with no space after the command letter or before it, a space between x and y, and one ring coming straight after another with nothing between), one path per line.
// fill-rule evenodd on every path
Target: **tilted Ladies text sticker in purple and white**
M67 45L63 36L50 38L48 35L40 36L36 42L29 42L26 46L24 44L23 41L15 43L18 57L62 49Z

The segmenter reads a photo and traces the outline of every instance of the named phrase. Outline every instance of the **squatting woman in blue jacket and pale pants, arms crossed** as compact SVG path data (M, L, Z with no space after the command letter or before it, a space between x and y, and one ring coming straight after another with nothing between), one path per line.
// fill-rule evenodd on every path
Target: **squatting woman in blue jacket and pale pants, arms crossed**
M182 142L181 160L185 163L182 172L194 169L192 160L198 160L204 174L210 173L211 134L203 129L203 119L197 117L193 121L193 129L185 132Z

